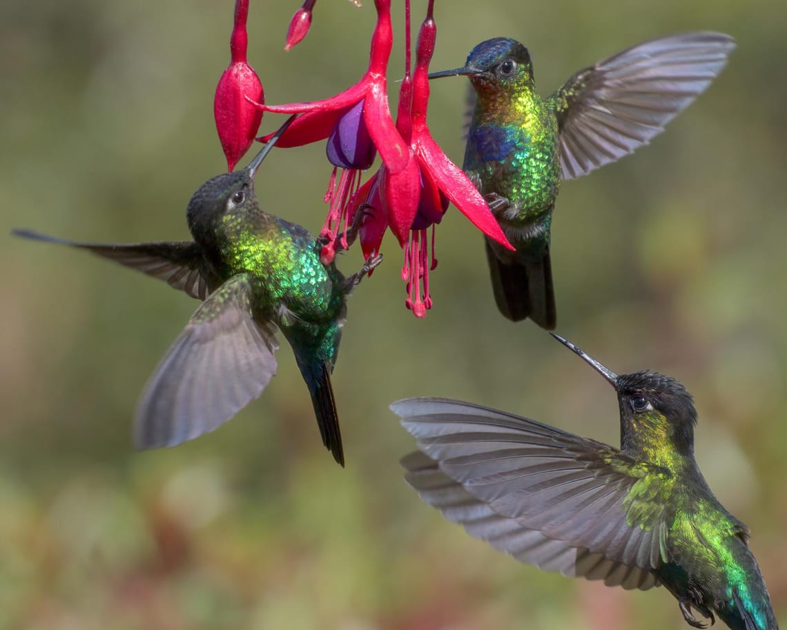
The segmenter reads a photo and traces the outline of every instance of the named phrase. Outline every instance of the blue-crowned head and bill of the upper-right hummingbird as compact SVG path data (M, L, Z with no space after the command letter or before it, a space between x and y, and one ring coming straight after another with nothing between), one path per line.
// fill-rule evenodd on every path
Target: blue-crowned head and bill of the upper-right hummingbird
M479 94L515 94L532 86L533 66L527 48L506 37L487 39L467 55L462 68L432 72L430 79L442 76L467 76Z

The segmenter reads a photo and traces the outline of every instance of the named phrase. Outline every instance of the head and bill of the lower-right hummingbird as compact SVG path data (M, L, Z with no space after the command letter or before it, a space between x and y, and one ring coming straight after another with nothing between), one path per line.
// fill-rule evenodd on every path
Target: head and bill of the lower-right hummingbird
M567 339L550 332L604 376L618 395L620 442L626 451L652 459L665 453L691 455L696 409L685 387L671 376L642 370L617 376Z

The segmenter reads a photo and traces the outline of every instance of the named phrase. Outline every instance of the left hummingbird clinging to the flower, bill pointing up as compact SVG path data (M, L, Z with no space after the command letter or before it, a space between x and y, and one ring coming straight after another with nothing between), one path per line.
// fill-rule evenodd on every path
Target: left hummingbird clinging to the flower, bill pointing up
M254 175L290 121L246 169L213 177L194 193L186 211L193 241L79 243L13 231L89 250L202 300L142 392L139 448L194 439L257 398L276 372L279 328L309 387L323 444L344 465L331 372L346 299L382 258L368 258L345 277L334 262L320 261L323 242L260 209Z

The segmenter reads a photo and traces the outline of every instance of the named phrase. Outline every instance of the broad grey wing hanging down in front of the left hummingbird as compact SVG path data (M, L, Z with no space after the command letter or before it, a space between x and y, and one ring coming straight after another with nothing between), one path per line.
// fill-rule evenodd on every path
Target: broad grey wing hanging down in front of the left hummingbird
M142 393L139 448L174 447L210 432L257 398L276 373L272 327L251 314L245 273L232 276L191 316Z

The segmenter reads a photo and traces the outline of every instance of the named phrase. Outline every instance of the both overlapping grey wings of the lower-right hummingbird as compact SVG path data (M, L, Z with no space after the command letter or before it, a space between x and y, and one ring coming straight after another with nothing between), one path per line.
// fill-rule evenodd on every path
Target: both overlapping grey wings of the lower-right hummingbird
M655 584L640 573L666 559L666 470L466 402L412 398L391 408L437 467L405 458L408 480L471 535L566 575Z

